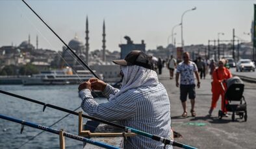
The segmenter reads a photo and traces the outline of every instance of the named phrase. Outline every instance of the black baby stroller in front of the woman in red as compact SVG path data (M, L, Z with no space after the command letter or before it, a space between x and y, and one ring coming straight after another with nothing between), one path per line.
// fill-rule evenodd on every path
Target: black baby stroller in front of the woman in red
M240 119L244 118L244 121L247 120L247 109L246 109L246 100L242 95L244 92L244 83L238 76L227 79L227 91L225 91L225 100L224 107L227 111L232 112L232 121L235 121L235 114L239 115ZM222 84L222 88L224 88ZM227 101L227 102L225 102ZM234 104L237 103L237 104ZM224 112L219 111L218 117L222 119Z

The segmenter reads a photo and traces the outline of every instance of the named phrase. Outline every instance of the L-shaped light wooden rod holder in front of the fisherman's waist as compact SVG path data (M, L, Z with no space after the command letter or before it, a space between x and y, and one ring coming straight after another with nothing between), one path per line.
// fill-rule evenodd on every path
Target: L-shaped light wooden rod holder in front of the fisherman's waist
M79 111L79 128L78 134L83 137L133 137L136 133L131 132L108 132L108 133L94 133L90 130L83 130L83 111Z

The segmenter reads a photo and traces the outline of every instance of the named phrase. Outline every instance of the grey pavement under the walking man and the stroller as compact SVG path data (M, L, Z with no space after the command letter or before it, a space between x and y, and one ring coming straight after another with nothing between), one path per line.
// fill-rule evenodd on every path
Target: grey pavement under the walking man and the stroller
M171 103L172 129L181 133L183 137L175 138L183 144L196 148L255 148L256 144L256 111L255 89L256 84L244 82L244 97L247 102L248 120L236 119L232 121L231 115L218 119L218 106L208 117L211 106L211 78L209 75L201 80L201 87L196 89L196 117L191 117L190 100L187 100L188 117L183 118L183 108L179 100L179 88L175 86L175 78L170 80L168 69L162 69L159 81L166 87ZM238 118L238 115L236 115ZM174 147L177 148L177 147Z

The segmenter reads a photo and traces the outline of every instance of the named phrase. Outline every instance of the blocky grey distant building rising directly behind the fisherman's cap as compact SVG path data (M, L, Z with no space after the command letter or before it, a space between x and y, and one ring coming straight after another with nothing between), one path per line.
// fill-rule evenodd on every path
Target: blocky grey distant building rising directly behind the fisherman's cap
M121 48L121 59L125 58L125 56L134 50L146 52L146 45L144 43L144 40L142 40L142 43L140 44L134 44L133 41L131 41L131 38L128 36L124 37L125 40L127 40L127 44L120 44L119 47Z

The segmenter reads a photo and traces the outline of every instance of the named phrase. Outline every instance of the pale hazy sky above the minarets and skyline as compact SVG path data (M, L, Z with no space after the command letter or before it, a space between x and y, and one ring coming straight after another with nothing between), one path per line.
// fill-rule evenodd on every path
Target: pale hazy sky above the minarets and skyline
M89 21L90 51L102 49L103 20L106 26L106 46L120 51L120 44L129 36L134 43L146 43L146 50L166 47L175 38L181 45L181 16L183 16L185 45L208 44L208 40L231 40L233 29L240 40L250 41L253 4L256 1L71 1L26 0L36 13L65 41L75 35L85 43L85 21ZM62 51L60 40L32 14L20 0L0 1L0 47L18 46L31 36L38 48ZM172 36L172 29L175 33ZM223 32L224 35L218 34Z

